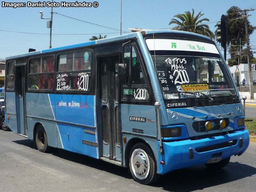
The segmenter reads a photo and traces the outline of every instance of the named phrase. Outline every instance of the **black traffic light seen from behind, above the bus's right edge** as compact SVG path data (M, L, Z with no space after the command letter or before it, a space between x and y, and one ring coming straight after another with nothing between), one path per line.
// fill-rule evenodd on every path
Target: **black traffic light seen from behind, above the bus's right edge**
M218 29L217 30L217 42L220 43L221 47L226 47L227 42L227 31L228 31L228 25L227 25L227 17L225 15L221 16L220 22L217 23Z

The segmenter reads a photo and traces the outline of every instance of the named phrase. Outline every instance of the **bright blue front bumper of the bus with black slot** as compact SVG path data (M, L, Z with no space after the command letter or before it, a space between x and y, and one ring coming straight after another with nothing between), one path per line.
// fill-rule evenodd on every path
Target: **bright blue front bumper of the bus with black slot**
M214 157L221 156L225 159L235 154L241 155L247 149L249 141L249 133L243 129L205 139L163 142L164 154L158 152L158 173L165 174L175 169L205 164Z

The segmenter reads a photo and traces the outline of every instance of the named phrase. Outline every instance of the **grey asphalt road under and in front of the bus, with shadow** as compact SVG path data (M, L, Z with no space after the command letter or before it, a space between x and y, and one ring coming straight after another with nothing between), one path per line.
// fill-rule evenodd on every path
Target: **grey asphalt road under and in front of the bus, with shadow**
M0 130L0 191L255 191L256 142L242 156L232 156L222 170L204 165L162 175L152 186L135 182L128 172L107 162L61 149L41 153L33 142Z

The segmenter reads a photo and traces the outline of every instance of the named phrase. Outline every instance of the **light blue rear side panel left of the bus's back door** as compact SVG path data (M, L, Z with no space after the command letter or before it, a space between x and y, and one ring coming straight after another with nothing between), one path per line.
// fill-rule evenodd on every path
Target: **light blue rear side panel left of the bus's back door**
M8 127L14 132L18 133L17 126L17 114L16 114L16 93L15 92L5 92L5 103L8 103L6 106L6 116L10 116L9 119L5 118L5 122ZM14 115L15 114L15 115Z

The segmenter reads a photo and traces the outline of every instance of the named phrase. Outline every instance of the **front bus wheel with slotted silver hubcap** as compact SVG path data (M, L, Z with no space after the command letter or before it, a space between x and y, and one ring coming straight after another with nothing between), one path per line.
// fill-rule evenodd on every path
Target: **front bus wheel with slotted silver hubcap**
M159 174L156 173L156 163L149 148L143 143L132 147L129 158L129 167L134 180L148 185L155 182Z

